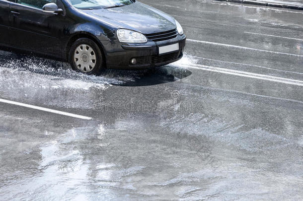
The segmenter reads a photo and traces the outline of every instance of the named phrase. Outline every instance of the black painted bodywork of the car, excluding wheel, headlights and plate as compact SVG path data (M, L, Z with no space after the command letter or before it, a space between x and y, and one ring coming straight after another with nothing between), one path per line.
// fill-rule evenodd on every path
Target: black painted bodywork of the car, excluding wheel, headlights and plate
M122 7L80 10L67 0L57 0L62 14L0 0L0 46L12 50L37 53L61 61L68 61L69 47L75 38L88 37L103 50L108 68L139 69L152 65L129 64L134 57L158 55L158 47L179 43L180 57L186 36L146 43L121 43L116 36L119 28L143 34L176 29L174 18L138 1ZM171 63L172 60L169 62ZM162 64L161 64L162 65ZM153 65L156 66L156 65Z

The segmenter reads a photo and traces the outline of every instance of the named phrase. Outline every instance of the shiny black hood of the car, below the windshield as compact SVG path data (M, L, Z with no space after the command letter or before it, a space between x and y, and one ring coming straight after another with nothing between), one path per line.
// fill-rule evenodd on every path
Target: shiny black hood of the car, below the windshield
M175 20L168 14L136 1L122 7L81 10L101 23L113 28L125 28L144 34L158 33L176 28Z

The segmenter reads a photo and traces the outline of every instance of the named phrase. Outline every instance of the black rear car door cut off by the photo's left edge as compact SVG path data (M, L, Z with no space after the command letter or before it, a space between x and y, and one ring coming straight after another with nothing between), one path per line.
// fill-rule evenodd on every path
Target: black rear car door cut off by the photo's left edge
M9 5L10 1L0 0L0 44L9 44L9 34L8 34L8 15L9 15Z

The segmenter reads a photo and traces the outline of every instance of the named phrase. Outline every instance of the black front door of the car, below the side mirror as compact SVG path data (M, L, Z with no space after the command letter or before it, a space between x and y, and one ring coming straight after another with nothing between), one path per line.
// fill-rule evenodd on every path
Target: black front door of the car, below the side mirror
M14 47L61 56L64 14L43 11L43 5L50 2L64 9L60 0L16 0L11 3L9 29L14 33L11 42Z

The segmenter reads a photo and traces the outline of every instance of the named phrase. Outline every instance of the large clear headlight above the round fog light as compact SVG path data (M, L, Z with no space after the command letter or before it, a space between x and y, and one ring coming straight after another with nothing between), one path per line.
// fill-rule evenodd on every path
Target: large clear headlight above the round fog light
M145 43L148 39L142 33L128 29L118 29L117 36L123 43Z

